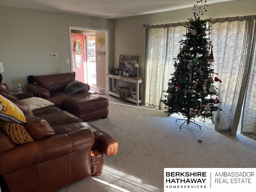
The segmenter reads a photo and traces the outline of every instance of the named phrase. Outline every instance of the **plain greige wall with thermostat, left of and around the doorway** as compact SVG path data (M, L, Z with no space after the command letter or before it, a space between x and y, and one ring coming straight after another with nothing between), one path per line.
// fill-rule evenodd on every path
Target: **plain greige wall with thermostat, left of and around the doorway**
M109 29L113 62L113 20L0 6L2 82L11 90L19 82L26 89L28 75L70 72L68 26Z

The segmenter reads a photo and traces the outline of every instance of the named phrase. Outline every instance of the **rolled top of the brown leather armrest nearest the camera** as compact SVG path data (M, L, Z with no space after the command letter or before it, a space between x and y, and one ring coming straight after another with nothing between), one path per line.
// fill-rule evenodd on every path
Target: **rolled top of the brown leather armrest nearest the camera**
M0 174L12 173L72 152L91 148L93 143L92 132L89 129L80 129L21 144L0 154Z

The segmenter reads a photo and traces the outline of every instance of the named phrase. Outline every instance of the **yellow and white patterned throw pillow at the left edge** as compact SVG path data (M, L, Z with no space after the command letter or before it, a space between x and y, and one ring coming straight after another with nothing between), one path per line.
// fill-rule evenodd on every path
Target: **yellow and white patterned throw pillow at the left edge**
M26 118L20 108L2 95L0 95L0 119L20 124L26 123Z

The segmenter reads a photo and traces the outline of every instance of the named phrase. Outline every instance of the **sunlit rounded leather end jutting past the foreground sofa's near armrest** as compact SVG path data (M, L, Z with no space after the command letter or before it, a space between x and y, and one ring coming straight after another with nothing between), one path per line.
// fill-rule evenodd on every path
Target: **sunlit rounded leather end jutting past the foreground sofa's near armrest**
M94 146L106 156L115 155L118 151L118 142L106 132L98 129L96 126L90 125L90 130L94 134Z

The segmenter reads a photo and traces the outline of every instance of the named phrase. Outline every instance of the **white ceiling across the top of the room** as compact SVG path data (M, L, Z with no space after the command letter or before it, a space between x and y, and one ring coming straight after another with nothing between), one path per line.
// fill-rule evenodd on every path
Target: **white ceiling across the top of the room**
M208 4L231 0L207 0ZM0 6L101 18L122 18L192 7L196 0L0 0Z

